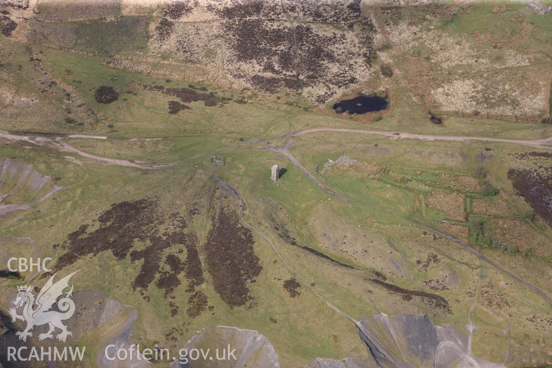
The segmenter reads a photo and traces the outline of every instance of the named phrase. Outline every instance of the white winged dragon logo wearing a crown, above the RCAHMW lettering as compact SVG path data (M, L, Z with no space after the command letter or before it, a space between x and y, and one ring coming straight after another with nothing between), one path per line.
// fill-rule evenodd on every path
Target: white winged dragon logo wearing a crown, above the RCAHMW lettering
M80 271L80 270L78 270ZM75 275L78 271L73 272L72 274L65 276L65 278L57 281L54 284L54 277L56 274L44 284L43 288L38 293L35 301L35 295L31 292L33 286L18 286L17 298L13 302L15 308L9 310L9 314L12 315L12 322L15 322L16 319L22 319L27 322L27 326L23 332L17 332L16 335L19 336L20 340L26 341L28 336L33 336L33 333L30 332L31 329L35 326L41 326L43 324L48 324L50 329L46 333L41 333L39 335L39 340L44 340L46 338L53 338L52 332L55 328L61 329L61 333L57 334L57 339L61 342L65 342L68 335L72 335L70 331L67 330L67 327L61 323L65 319L69 319L75 313L75 302L73 302L69 297L72 296L73 284L71 284L71 290L62 297L57 302L57 308L64 313L59 311L51 310L52 306L56 302L57 298L62 296L63 289L69 286L69 279L71 276ZM37 306L36 308L33 308ZM23 307L23 314L17 314L17 308Z

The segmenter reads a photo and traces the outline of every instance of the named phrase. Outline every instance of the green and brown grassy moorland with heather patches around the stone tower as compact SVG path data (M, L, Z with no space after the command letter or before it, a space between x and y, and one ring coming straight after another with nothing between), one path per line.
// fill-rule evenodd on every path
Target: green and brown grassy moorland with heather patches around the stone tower
M292 8L295 35L285 33L289 20L274 20L277 10L274 19L258 16L259 29L236 31L266 38L261 53L270 49L267 29L286 40L304 31L301 73L311 67L305 44L316 45L309 37L327 42L320 55L358 68L353 49L369 44L370 67L354 87L332 81L331 62L339 63L324 60L320 75L301 74L295 88L290 76L299 71L264 64L286 60L284 46L247 58L239 37L221 28L251 19L204 8L188 15L175 4L39 2L10 8L26 23L0 37L0 130L29 136L0 138L0 255L52 257L60 275L81 270L75 299L95 312L79 315L68 343L87 346L83 366L96 365L118 329L131 327L142 348L178 350L218 325L258 331L282 367L347 356L375 364L346 316L379 312L427 316L466 341L470 321L477 329L466 354L552 364L545 299L439 233L552 295L550 151L431 137L552 136L539 122L552 104L550 15L520 2L473 2L454 16L448 2L368 7L370 22ZM16 13L32 10L40 13ZM187 44L190 29L209 37ZM348 44L332 54L337 34ZM376 90L388 109L331 109ZM282 137L315 127L430 137ZM129 139L153 137L161 139ZM210 156L225 166L211 167ZM2 275L4 310L15 286L40 287L49 276ZM426 364L413 353L404 359Z

